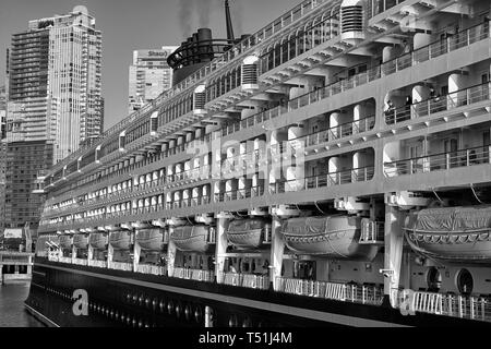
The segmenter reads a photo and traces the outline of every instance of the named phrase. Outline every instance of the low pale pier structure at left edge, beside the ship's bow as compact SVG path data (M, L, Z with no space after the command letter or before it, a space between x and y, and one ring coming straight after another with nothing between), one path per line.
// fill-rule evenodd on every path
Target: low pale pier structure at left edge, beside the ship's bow
M0 251L0 285L32 277L34 253Z

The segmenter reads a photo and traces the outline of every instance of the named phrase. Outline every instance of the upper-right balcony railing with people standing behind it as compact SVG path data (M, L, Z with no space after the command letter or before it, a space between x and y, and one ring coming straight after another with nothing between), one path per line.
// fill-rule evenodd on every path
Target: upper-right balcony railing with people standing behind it
M490 83L479 84L445 96L433 97L396 109L388 109L385 111L385 123L397 124L407 120L424 118L442 111L490 100Z

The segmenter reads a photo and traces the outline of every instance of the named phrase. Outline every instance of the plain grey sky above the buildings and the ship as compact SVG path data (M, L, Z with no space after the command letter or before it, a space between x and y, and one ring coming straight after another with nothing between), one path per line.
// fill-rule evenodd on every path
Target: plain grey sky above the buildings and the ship
M67 14L83 4L103 32L105 129L127 116L128 67L132 51L180 45L197 27L225 38L223 0L0 0L0 85L5 77L5 49L11 34L27 22ZM252 34L301 0L230 0L235 35ZM187 33L185 33L187 32Z

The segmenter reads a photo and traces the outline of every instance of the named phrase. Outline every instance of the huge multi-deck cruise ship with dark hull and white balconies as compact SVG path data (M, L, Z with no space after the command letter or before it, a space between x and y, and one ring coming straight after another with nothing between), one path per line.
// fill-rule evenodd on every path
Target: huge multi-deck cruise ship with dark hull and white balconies
M489 325L490 10L307 0L239 39L199 29L170 91L39 173L26 309L51 326Z

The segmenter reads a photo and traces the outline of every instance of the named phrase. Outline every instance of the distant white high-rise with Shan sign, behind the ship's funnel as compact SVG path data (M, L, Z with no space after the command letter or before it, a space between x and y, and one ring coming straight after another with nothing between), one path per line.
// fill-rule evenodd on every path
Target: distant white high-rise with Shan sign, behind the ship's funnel
M167 64L167 57L177 48L164 46L156 50L133 51L129 80L130 113L172 86L172 69Z

